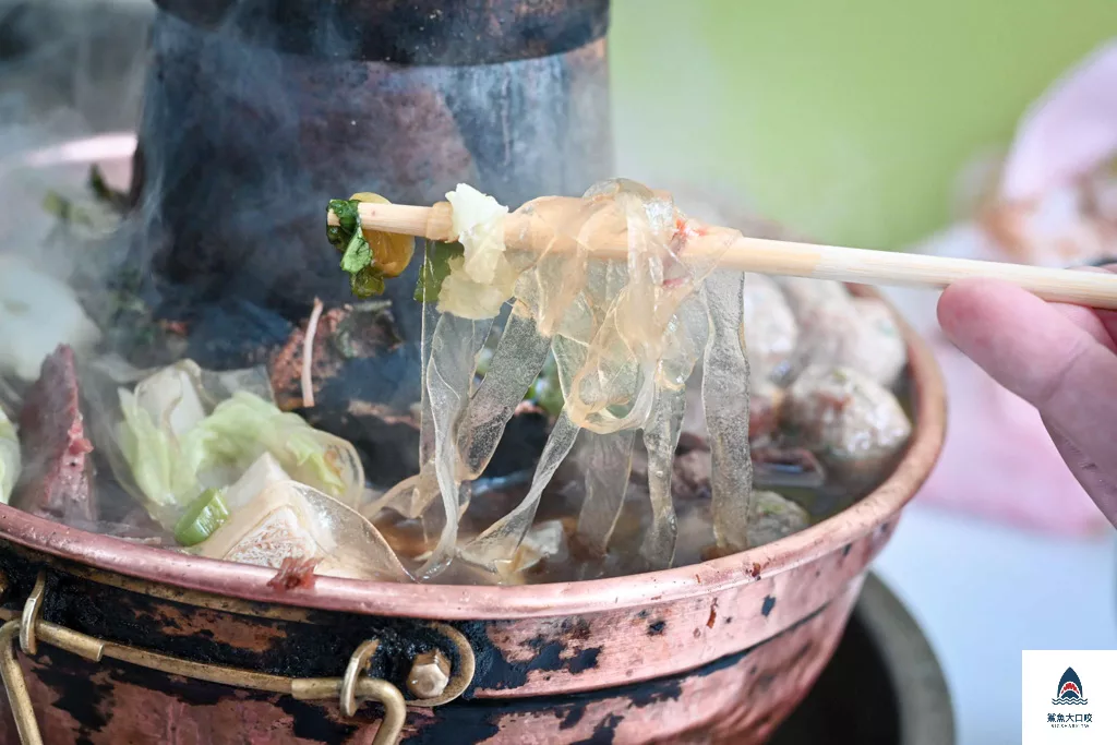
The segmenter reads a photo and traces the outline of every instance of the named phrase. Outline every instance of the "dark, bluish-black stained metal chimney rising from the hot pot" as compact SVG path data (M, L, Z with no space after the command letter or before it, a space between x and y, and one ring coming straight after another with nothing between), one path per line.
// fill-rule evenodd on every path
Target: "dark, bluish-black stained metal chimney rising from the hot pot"
M139 245L157 313L188 321L203 366L274 359L315 297L353 300L325 238L332 198L423 204L466 182L515 208L612 175L608 0L156 4ZM385 389L394 411L418 401L420 264L385 296L402 348L343 370L338 405ZM359 446L383 439L346 418L328 395L308 416ZM389 439L414 457L416 440Z

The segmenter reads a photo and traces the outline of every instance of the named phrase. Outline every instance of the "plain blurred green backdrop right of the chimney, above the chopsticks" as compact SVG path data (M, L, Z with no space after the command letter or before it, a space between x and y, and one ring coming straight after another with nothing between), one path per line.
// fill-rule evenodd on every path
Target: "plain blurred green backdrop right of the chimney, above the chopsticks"
M618 165L828 242L946 223L961 169L1117 36L1117 0L614 0Z

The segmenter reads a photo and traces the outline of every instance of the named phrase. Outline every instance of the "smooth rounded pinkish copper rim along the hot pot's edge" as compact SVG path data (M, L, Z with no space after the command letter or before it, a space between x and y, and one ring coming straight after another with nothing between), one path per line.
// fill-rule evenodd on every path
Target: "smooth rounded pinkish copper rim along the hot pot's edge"
M861 296L880 297L869 287L850 289ZM513 620L643 608L708 596L814 561L865 536L899 513L926 481L945 438L946 393L929 347L898 314L897 321L908 346L915 428L896 469L877 489L825 520L757 548L700 564L601 580L519 586L404 584L318 576L311 590L284 592L268 586L275 576L270 569L189 556L78 531L8 505L0 505L0 541L182 590L366 615Z

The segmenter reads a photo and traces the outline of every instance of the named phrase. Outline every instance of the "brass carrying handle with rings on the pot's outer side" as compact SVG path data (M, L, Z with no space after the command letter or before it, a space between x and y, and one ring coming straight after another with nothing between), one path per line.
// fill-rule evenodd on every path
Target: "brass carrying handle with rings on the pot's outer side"
M40 618L45 592L46 571L40 571L35 588L23 604L20 618L12 619L0 627L0 677L3 678L4 690L11 704L21 745L42 745L42 735L39 733L23 670L16 659L17 640L25 655L37 653L38 642L44 641L94 662L99 662L103 658L108 657L170 675L236 688L289 694L303 700L335 699L340 704L342 715L346 717L354 716L362 701L373 699L384 707L384 716L376 729L372 745L395 745L403 730L407 706L427 708L452 701L469 687L476 667L472 648L460 631L445 623L431 623L430 625L457 649L457 665L455 666L457 669L452 670L452 676L440 695L404 701L403 694L391 682L365 675L372 656L380 646L378 639L369 639L356 648L350 658L345 675L341 678L288 678L183 660L135 647L103 641L45 621Z

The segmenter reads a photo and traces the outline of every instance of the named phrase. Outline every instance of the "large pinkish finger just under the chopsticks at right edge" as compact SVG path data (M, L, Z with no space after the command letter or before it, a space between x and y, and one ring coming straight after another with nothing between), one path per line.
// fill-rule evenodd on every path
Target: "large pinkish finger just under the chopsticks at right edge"
M1083 328L1076 312L987 279L946 289L938 319L964 354L1117 480L1117 355L1096 326Z

